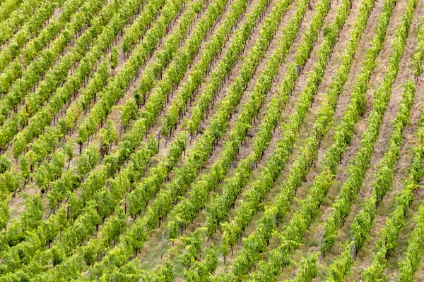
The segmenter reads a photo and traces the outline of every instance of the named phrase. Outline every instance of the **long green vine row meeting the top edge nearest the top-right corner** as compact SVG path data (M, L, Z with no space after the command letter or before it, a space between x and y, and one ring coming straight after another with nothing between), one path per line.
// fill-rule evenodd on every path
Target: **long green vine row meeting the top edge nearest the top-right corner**
M396 31L396 37L399 44L392 45L392 56L387 68L387 75L379 88L375 91L375 103L373 105L372 114L368 117L368 127L360 142L360 148L355 154L351 166L348 168L348 178L343 183L337 198L332 205L331 212L324 223L324 234L322 238L322 252L325 254L334 244L338 228L341 226L346 216L351 212L351 206L355 196L359 192L363 183L363 176L370 166L370 157L374 149L375 142L379 137L379 127L384 116L391 94L391 85L396 79L399 71L399 62L404 51L406 38L408 37L409 26L413 19L413 13L416 7L416 0L408 2L406 13L402 18L402 23ZM377 102L376 102L377 101Z

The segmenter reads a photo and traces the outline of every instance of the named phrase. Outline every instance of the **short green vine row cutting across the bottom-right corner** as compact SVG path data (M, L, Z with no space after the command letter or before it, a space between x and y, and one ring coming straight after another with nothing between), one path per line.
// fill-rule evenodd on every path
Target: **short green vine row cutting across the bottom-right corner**
M404 253L404 258L399 263L399 276L396 281L412 282L413 275L418 270L421 258L423 257L424 247L424 206L421 205L418 209L418 214L415 216L414 223L416 227L411 233L408 240L408 250Z

